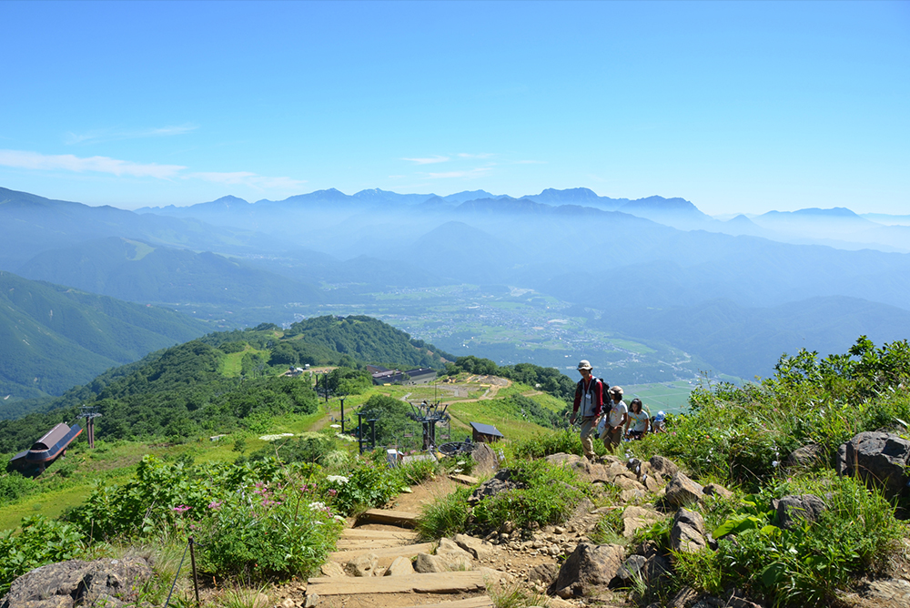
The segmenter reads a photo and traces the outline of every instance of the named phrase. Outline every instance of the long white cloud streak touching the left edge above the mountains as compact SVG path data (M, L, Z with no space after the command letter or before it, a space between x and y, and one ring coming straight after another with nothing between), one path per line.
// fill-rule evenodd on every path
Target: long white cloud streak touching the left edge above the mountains
M64 170L84 173L109 173L117 177L157 177L169 179L187 167L179 165L158 165L157 163L134 163L108 157L80 158L72 154L47 155L24 150L0 150L0 165L24 169Z

